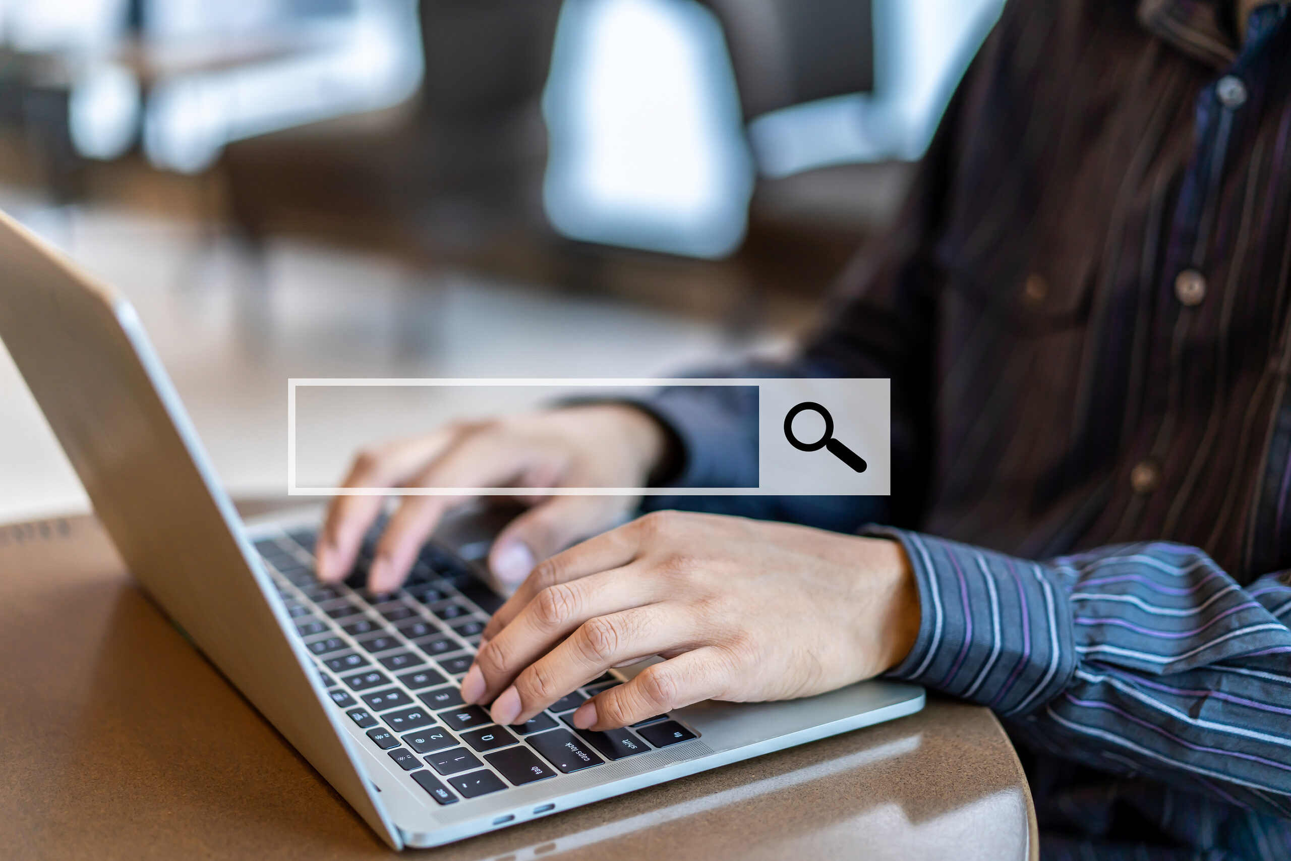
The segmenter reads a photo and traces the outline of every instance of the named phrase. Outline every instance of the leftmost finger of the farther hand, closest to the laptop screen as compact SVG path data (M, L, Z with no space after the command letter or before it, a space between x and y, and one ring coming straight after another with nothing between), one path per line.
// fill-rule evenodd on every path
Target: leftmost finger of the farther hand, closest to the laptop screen
M398 440L364 452L355 458L342 487L402 484L451 445L458 432L457 427L445 427L427 436ZM350 573L363 537L381 514L383 503L380 496L340 496L332 501L315 547L320 580L333 582Z

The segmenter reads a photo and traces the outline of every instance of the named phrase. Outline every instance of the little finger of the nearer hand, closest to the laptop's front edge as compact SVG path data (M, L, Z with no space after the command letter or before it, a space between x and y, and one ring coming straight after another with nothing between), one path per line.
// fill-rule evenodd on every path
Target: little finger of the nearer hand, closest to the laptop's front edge
M578 729L617 729L673 709L724 697L738 680L724 649L706 645L652 663L626 684L603 691L573 713Z

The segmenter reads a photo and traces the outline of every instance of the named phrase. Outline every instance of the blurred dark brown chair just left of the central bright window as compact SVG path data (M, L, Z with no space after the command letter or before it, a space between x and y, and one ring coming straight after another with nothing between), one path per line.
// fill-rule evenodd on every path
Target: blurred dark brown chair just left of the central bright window
M438 257L538 218L538 97L560 0L421 0L425 74L407 103L235 142L222 159L252 243L321 232Z

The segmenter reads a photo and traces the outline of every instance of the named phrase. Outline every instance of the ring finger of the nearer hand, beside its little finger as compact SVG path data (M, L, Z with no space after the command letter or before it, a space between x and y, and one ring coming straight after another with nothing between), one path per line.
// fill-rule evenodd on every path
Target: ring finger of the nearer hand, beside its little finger
M515 678L493 702L493 720L503 725L524 723L609 667L688 645L696 634L695 617L675 604L590 618Z

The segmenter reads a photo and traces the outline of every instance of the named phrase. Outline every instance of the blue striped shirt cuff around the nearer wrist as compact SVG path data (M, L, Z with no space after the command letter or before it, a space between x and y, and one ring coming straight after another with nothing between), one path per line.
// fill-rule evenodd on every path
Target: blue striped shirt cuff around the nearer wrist
M919 587L910 654L888 675L1020 716L1068 687L1077 665L1066 591L1041 563L891 527Z

